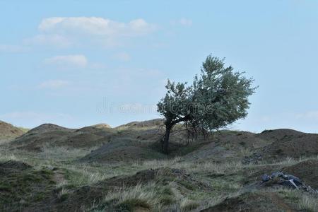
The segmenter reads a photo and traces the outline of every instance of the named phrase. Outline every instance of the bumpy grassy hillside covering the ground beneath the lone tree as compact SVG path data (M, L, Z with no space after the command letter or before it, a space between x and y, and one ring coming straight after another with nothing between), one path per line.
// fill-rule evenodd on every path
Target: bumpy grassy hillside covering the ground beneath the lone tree
M42 124L0 146L0 211L316 211L318 195L261 175L282 171L318 189L318 135L220 131L170 155L163 120L116 128Z

